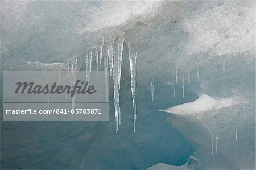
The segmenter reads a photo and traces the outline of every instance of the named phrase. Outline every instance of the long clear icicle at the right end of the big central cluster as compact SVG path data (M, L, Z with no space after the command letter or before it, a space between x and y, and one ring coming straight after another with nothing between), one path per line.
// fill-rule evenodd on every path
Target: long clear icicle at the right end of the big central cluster
M137 52L131 54L129 50L130 72L131 72L131 96L133 98L133 131L136 125L136 59Z

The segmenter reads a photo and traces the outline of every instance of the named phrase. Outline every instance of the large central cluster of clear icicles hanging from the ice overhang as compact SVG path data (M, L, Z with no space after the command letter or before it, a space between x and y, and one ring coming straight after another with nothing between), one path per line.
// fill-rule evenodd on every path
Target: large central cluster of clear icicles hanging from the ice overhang
M116 133L118 132L118 125L121 125L121 109L119 106L119 90L121 88L121 71L122 71L122 55L123 55L123 42L125 40L125 32L119 36L115 36L112 41L106 42L102 39L100 47L90 47L88 51L82 53L82 59L85 59L85 74L86 81L90 81L90 74L92 72L92 60L93 57L96 60L96 67L98 71L99 65L102 64L104 60L104 71L105 71L105 86L106 86L106 102L108 102L108 68L110 75L113 74L113 84L114 84L114 109L115 109L115 123L116 123ZM136 59L137 52L132 52L131 45L128 43L129 47L129 61L130 61L130 73L131 73L131 95L133 98L133 113L134 113L134 132L136 123ZM105 52L104 52L105 51ZM72 61L69 61L68 72L70 75L69 80L71 85L76 82L76 75L80 67L77 67L77 57ZM80 65L81 66L81 65ZM72 99L72 108L75 103L75 97Z

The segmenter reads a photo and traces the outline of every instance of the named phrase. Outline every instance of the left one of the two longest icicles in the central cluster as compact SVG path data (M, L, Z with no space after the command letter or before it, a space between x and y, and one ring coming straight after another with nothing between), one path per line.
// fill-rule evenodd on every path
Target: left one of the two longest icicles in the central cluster
M110 50L110 56L112 56L111 52L113 52L113 49ZM120 106L119 106L119 84L118 84L119 68L118 68L118 64L119 64L118 63L118 55L114 55L113 83L114 83L114 107L115 107L115 132L116 133L118 132L118 117L119 117L119 123L121 123L121 120L120 120L121 112L120 112Z

